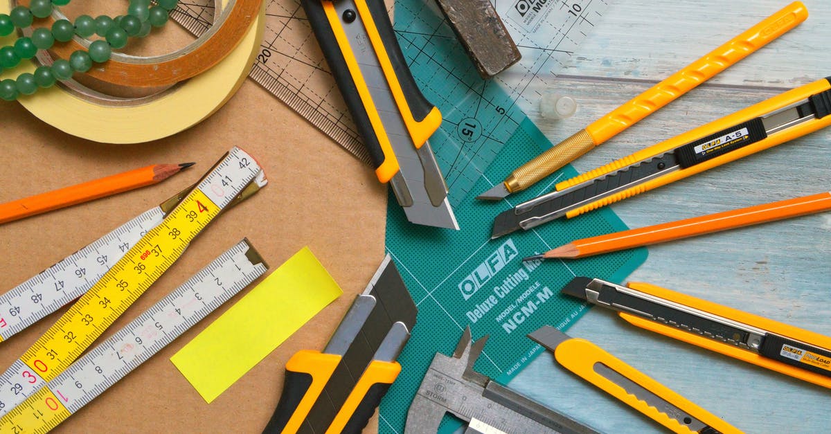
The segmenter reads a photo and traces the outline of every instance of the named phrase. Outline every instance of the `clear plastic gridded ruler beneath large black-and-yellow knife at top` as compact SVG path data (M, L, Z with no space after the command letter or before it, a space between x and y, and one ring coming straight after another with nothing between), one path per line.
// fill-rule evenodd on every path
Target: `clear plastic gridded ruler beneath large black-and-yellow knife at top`
M487 169L524 121L523 111L536 106L544 82L568 61L611 0L492 1L523 59L496 79L483 81L432 0L395 0L401 48L421 91L444 116L430 144L451 205ZM302 7L297 0L265 2L265 36L251 78L368 163ZM171 17L201 35L213 22L213 2L180 2Z

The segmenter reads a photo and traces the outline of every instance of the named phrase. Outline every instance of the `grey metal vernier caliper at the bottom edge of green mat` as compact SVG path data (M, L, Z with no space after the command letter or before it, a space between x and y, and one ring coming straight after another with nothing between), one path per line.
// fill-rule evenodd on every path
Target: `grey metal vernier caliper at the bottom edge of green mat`
M445 412L468 422L465 434L534 432L597 433L476 372L488 337L470 340L470 327L452 356L436 353L407 412L405 434L435 434Z

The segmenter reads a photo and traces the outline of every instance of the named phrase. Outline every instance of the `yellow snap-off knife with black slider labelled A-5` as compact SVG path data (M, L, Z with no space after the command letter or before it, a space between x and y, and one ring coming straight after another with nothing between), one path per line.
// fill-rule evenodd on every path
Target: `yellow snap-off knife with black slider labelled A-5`
M569 219L831 124L831 77L786 91L555 186L494 219L491 238Z

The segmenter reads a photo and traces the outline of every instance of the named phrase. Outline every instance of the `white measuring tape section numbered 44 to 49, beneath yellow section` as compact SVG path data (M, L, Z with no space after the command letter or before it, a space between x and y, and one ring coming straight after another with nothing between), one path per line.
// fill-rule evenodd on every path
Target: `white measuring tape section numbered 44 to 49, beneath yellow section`
M257 179L246 187L238 200L253 195L267 183L260 171ZM158 226L191 189L180 191L161 205L145 211L0 295L0 342L86 293L131 246Z

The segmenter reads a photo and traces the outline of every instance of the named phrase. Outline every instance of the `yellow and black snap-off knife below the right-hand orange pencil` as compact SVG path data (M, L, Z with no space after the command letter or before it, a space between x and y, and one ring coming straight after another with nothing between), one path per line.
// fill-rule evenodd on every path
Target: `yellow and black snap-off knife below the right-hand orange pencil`
M628 323L831 388L831 338L651 284L574 278L563 293Z

